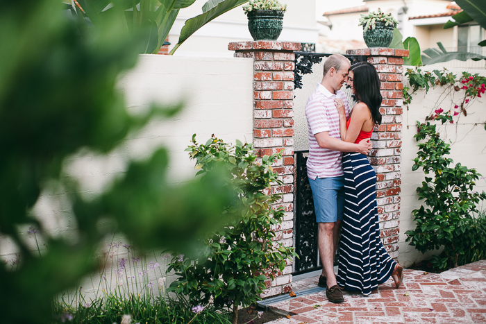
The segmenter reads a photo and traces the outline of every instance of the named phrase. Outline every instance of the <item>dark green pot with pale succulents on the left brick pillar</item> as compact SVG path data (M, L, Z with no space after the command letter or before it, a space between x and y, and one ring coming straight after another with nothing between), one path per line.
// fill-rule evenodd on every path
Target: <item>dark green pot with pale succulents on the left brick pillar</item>
M253 40L277 40L286 4L278 0L250 0L243 10L248 15L248 29Z

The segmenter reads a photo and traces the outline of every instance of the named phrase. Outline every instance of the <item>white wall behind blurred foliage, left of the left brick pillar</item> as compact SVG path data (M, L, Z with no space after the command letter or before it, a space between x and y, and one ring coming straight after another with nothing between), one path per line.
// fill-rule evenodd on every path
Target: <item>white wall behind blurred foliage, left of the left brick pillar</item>
M90 198L101 193L112 180L122 176L128 157L135 160L148 158L161 146L169 151L169 180L176 184L192 179L196 171L194 162L184 152L191 144L192 134L204 143L212 134L235 144L235 139L252 142L253 139L253 59L251 58L178 58L174 56L142 55L134 69L119 79L119 89L124 93L128 110L134 114L151 103L171 105L184 101L183 110L174 117L154 120L140 133L131 134L118 148L106 156L80 151L67 159L67 176L78 179L81 194ZM42 192L33 210L47 234L53 237L76 239L76 221L65 195L51 191ZM35 239L27 235L28 228L19 228L33 251ZM37 236L41 252L45 247ZM105 249L112 237L104 242ZM114 241L126 244L123 237ZM118 250L118 249L117 249ZM0 259L15 259L17 248L6 236L0 236ZM120 257L126 249L119 248ZM156 253L160 255L159 253ZM153 258L147 262L155 261ZM110 259L108 259L110 262ZM151 271L151 280L157 287L157 277L167 260L158 259L161 268ZM115 262L116 263L116 262ZM140 264L140 263L139 263ZM112 275L108 268L107 277ZM93 275L81 284L85 293L97 287L99 276ZM170 278L169 278L170 281ZM167 282L169 284L169 282ZM88 297L92 295L88 294Z

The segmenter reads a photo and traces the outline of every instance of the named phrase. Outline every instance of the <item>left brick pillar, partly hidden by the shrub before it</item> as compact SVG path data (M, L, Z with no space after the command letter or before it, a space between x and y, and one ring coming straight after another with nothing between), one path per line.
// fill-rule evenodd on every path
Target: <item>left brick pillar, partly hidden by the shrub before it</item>
M294 228L294 51L301 43L291 42L234 42L228 45L235 58L253 58L253 148L262 157L281 152L283 158L274 170L284 182L271 187L274 194L283 194L274 208L284 207L285 217L276 228L276 240L293 246ZM262 297L292 290L292 262L271 281Z

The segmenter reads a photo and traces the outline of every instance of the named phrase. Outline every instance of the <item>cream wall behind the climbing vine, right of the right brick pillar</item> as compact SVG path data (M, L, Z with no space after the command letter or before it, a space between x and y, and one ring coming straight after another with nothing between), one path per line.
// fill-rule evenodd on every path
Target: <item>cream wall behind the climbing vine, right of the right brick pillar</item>
M423 67L423 70L432 71L432 68ZM454 74L460 76L462 69L449 69ZM486 76L485 70L468 70L471 74L480 74ZM407 83L405 80L404 83ZM439 96L444 92L444 88L436 86L430 89L428 94L424 90L419 90L413 96L412 103L403 106L403 133L402 133L402 162L401 162L401 216L400 216L400 241L399 241L399 261L404 266L408 266L413 262L425 259L428 255L422 255L419 251L405 242L407 230L413 230L415 224L412 217L412 210L417 209L421 205L418 200L415 189L421 186L424 181L424 173L421 170L412 171L412 160L417 156L417 142L413 136L417 133L416 121L425 121L425 117L433 113L433 110L442 108L449 110L453 108L453 100L455 103L464 98L464 92L454 92L453 98L447 96L446 100L442 101L437 106ZM442 96L444 97L444 96ZM451 157L454 163L460 162L468 168L478 170L483 176L486 176L486 130L484 129L484 122L486 121L486 100L476 99L467 109L467 117L460 115L458 122L454 124L446 124L438 127L442 138L446 141L451 140ZM452 106L452 107L451 107ZM478 123L478 124L477 124ZM486 180L482 179L476 182L476 191L486 191ZM483 206L486 208L486 205Z

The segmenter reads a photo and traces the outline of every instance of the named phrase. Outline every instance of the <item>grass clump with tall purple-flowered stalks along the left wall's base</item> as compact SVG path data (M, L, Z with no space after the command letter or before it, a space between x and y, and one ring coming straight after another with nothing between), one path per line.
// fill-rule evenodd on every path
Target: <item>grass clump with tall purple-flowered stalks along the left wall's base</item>
M65 293L53 300L53 323L231 323L233 315L212 304L193 305L183 296L170 298L166 293L165 273L155 253L155 262L147 262L146 256L136 255L131 246L112 242L103 256L99 282L92 280L94 297L87 300L78 287L75 293ZM162 254L160 262L168 257Z

